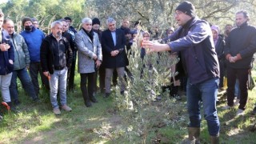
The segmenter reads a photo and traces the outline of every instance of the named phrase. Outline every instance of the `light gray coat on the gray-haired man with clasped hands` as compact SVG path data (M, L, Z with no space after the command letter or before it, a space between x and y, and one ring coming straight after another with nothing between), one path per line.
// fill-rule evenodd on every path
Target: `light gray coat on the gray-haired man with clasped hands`
M94 55L102 61L102 46L98 39L98 34L94 32L94 43L84 30L78 31L74 35L74 42L78 47L78 73L86 74L95 72Z

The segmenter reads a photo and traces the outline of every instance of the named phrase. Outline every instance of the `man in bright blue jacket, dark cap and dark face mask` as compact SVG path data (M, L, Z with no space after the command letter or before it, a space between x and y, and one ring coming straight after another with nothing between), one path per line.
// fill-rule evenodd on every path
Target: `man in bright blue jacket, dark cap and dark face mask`
M30 77L34 86L34 91L39 95L39 84L38 84L38 73L41 76L42 85L49 88L49 82L47 78L42 74L42 67L40 65L40 46L42 44L43 38L45 35L42 30L38 30L34 28L32 19L29 17L25 17L22 19L22 26L24 30L21 35L25 39L27 49L30 53L30 66L28 66L28 70L30 71Z

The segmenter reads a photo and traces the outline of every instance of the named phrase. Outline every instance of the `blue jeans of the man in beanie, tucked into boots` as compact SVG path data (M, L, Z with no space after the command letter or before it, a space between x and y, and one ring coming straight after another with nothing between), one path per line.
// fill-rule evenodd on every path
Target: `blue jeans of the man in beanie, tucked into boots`
M189 126L200 127L200 106L202 102L204 118L206 119L208 132L211 136L217 136L220 130L216 109L218 82L218 78L211 78L192 85L188 78L186 85L187 110L190 116Z

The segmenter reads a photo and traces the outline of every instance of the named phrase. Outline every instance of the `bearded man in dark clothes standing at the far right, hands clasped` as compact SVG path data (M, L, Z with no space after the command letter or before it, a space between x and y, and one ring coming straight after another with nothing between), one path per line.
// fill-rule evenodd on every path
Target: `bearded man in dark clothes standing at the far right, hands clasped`
M239 81L240 102L237 115L244 114L248 98L248 74L256 52L256 29L248 25L249 14L246 10L238 11L235 15L237 28L234 28L226 39L225 55L227 66L227 106L234 106L234 85L236 78Z

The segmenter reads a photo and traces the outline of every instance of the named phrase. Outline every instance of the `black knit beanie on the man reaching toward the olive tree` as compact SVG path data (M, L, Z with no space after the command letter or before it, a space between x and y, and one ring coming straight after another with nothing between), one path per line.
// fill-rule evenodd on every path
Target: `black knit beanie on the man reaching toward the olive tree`
M192 18L196 16L194 5L188 1L180 3L176 10L182 11L183 13L189 15Z

